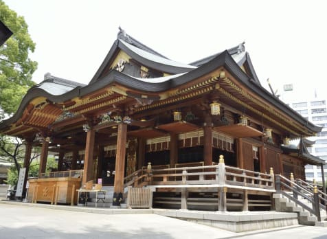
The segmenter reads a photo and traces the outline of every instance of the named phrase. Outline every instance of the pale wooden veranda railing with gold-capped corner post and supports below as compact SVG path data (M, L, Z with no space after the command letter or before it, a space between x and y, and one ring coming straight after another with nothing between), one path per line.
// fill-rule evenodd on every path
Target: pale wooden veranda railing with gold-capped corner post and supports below
M181 192L180 204L182 209L187 209L187 205L190 205L190 199L192 198L188 197L188 189L191 187L192 190L196 188L199 190L209 187L216 188L216 192L218 191L218 209L220 211L226 210L228 204L226 195L229 189L238 190L238 192L243 194L243 199L240 199L240 201L243 203L244 210L248 210L249 205L253 203L247 198L248 192L256 194L258 191L261 191L269 195L275 192L272 170L270 174L264 174L225 166L222 155L218 165L214 166L162 168L155 170L147 167L146 170L138 170L126 177L124 183L125 186L133 185L133 187L150 185L151 187L158 188L181 188L179 192ZM264 203L267 204L266 201ZM266 204L264 206L267 206Z

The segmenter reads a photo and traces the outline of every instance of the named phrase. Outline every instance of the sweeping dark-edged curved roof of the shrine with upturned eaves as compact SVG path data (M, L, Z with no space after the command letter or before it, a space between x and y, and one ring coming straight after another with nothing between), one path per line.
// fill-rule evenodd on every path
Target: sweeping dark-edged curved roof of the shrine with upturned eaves
M131 38L129 39L131 40ZM14 116L1 122L0 130L19 120L27 104L29 104L34 98L44 97L54 103L65 102L73 98L82 98L84 95L95 91L100 91L102 88L108 87L111 84L120 84L123 87L126 87L126 89L144 92L145 95L147 93L155 94L180 87L183 84L192 82L192 80L208 75L220 67L227 70L238 82L247 87L247 89L250 89L251 92L259 95L260 98L269 102L269 104L274 106L276 109L282 111L285 115L288 115L296 122L299 122L299 124L305 127L306 130L310 131L311 134L321 130L321 127L308 122L304 117L299 115L289 106L284 104L284 102L276 98L275 95L272 95L261 86L251 64L249 54L245 52L244 43L238 45L238 47L225 50L220 54L214 54L213 56L194 62L192 65L183 65L157 54L157 52L146 48L144 45L142 45L141 49L137 47L137 45L140 44L135 44L135 40L132 40L129 41L129 43L126 43L120 38L115 41L109 54L106 56L104 62L102 62L102 65L88 85L79 84L78 82L62 78L56 78L50 74L46 74L43 82L27 91L27 94L23 98L21 105ZM144 79L128 76L125 73L112 69L109 73L100 78L102 71L104 71L111 60L113 60L115 54L117 54L117 50L120 49L146 66L152 66L153 68L161 69L164 72L167 70L166 72L173 72L173 74L171 76ZM245 66L247 68L246 72L243 71L240 66ZM253 105L256 103L251 102L251 104ZM258 109L263 110L266 113L269 111L269 109L264 109L262 107L258 107Z

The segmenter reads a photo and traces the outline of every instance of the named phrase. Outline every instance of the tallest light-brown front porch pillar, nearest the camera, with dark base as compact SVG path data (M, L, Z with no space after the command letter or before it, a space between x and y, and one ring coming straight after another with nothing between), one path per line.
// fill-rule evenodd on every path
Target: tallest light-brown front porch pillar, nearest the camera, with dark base
M125 155L126 155L126 134L127 124L118 125L117 133L117 150L116 150L116 166L115 166L115 182L113 192L124 192L124 170L125 170Z

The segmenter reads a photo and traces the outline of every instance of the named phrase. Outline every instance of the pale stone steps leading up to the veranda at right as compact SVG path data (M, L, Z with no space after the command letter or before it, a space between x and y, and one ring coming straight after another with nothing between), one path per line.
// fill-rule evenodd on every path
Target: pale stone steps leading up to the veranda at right
M302 225L311 225L317 227L327 227L327 214L326 211L320 209L320 215L322 221L319 222L317 217L308 212L306 209L291 201L289 198L286 198L280 193L273 194L275 198L275 209L277 212L296 212L299 223ZM298 201L304 203L308 207L312 207L312 204L308 202L307 199L299 196Z

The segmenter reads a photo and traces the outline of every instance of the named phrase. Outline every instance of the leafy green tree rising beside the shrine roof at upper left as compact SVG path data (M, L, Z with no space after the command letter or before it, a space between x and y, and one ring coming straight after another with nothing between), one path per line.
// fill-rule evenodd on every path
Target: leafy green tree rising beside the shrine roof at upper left
M23 16L17 16L0 0L0 20L13 32L0 46L0 120L5 114L12 114L18 108L27 89L35 83L32 73L37 62L29 58L35 43L27 30Z

